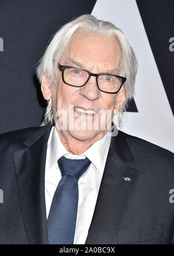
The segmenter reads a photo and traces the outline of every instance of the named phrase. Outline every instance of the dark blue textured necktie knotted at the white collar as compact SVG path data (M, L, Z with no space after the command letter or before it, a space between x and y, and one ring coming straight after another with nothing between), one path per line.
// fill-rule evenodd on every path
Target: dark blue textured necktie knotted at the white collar
M78 207L78 180L88 169L90 160L58 160L61 180L57 185L47 220L49 244L73 244Z

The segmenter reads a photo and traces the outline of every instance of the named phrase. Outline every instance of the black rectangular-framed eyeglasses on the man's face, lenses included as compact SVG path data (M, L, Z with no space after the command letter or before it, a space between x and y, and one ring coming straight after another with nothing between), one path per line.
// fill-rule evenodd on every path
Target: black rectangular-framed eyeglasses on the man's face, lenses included
M97 87L104 93L118 93L126 78L109 73L90 73L88 70L75 66L57 64L61 71L62 80L66 85L82 87L89 81L90 76L96 77Z

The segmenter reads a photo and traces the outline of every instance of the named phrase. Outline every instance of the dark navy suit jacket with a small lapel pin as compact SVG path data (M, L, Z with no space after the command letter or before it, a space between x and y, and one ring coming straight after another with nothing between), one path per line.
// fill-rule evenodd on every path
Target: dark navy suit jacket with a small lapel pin
M44 186L50 128L0 135L1 244L48 243ZM86 244L171 244L172 188L173 153L119 131L111 139Z

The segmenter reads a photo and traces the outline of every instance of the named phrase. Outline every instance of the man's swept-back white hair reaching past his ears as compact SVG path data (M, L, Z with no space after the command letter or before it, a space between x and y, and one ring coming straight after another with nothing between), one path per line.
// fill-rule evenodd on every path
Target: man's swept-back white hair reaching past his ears
M71 36L77 30L84 30L87 33L96 33L102 36L114 37L121 49L121 70L119 75L126 77L125 86L125 101L117 115L114 117L114 122L119 126L122 116L122 111L125 110L128 101L132 99L135 86L135 76L137 72L137 60L135 53L129 45L125 34L121 29L115 27L113 23L103 20L97 20L93 15L82 15L65 24L58 30L50 41L45 50L45 54L39 61L37 66L37 77L41 82L43 74L57 86L57 63L59 62L63 51L70 40ZM116 94L117 95L117 94ZM45 112L45 123L53 122L52 99L48 100L48 105Z

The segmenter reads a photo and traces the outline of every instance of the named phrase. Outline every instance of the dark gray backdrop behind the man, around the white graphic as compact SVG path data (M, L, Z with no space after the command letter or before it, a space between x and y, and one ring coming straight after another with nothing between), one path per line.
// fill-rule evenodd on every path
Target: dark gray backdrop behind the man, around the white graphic
M0 133L41 124L45 101L34 75L37 62L50 36L73 17L91 13L95 2L0 1ZM169 38L174 37L174 1L136 2L174 113L174 51L169 51ZM128 111L138 111L134 101Z

